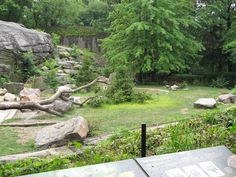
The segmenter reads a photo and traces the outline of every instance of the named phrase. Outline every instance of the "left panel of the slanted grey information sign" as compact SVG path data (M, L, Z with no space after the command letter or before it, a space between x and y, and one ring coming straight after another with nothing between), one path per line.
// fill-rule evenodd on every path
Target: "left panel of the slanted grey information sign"
M147 177L134 160L58 170L25 177Z

